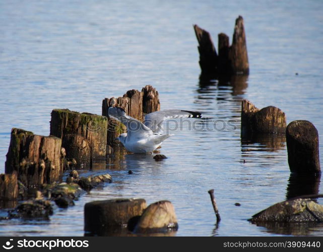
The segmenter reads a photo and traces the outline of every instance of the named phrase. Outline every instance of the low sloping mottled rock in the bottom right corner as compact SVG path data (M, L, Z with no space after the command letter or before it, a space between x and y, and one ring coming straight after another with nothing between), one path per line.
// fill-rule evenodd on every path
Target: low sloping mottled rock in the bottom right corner
M295 199L277 203L249 219L259 222L320 222L323 221L323 206L310 199Z

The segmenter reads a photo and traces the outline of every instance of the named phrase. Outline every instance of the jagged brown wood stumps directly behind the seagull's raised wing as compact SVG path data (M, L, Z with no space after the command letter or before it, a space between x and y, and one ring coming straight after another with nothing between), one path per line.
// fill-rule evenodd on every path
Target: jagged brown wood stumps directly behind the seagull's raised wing
M102 115L108 117L107 144L114 148L122 145L116 138L121 133L125 133L126 128L121 122L109 117L109 107L121 107L127 115L143 121L143 113L151 113L160 109L158 92L148 85L142 89L142 92L133 89L127 91L122 97L104 98Z

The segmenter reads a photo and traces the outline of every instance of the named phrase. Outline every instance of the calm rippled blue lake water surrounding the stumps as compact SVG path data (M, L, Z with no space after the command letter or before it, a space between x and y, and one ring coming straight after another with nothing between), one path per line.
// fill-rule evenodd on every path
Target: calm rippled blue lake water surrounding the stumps
M108 172L113 183L92 190L74 207L55 209L50 221L2 221L0 235L82 236L84 204L113 198L171 201L177 236L323 235L322 225L261 227L247 221L306 188L289 184L284 138L240 138L242 99L259 108L274 105L286 113L287 123L305 119L315 125L323 160L322 11L322 1L308 0L1 1L0 172L12 128L48 135L52 109L101 114L105 97L145 85L158 90L162 109L198 110L211 118L198 125L221 119L231 126L189 130L184 124L160 149L165 161L128 154L111 158L106 169L82 171ZM217 44L220 32L232 38L239 15L250 75L200 82L192 25L208 30ZM322 183L316 186L322 193ZM218 228L211 188L222 218Z

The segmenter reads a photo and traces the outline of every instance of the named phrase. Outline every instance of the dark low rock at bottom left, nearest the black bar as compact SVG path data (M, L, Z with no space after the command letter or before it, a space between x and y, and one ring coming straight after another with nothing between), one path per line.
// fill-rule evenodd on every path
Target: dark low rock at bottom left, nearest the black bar
M49 219L53 214L50 201L29 200L19 204L14 210L9 211L9 218L41 218Z

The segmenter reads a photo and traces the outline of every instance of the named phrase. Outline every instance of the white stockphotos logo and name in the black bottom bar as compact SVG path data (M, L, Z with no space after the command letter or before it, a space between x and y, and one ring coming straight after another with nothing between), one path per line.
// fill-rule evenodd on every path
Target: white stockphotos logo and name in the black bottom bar
M68 248L81 248L88 247L88 240L76 240L76 239L9 239L2 245L3 248L10 250L12 248L47 248L52 249L56 247L68 247Z

